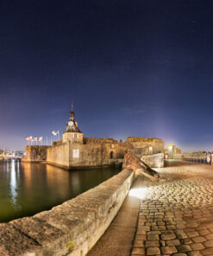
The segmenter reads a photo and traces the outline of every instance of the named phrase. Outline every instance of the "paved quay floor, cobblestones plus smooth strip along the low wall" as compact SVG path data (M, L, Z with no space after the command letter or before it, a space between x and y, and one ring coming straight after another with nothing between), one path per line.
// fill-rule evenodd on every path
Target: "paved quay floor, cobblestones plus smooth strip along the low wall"
M213 168L167 160L158 171L163 182L135 179L88 256L213 255Z

